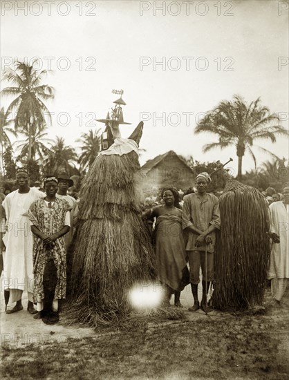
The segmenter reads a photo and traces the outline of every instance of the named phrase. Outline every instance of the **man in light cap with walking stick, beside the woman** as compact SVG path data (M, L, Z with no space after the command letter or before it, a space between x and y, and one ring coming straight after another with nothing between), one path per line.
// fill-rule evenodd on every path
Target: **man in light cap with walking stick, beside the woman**
M214 230L220 228L220 211L218 198L214 194L207 193L207 186L211 181L208 173L198 174L196 193L184 197L183 229L188 234L186 251L189 256L189 275L194 296L194 306L189 307L190 312L196 312L200 308L198 301L200 266L203 276L201 309L204 312L212 311L207 307L207 291L209 283L214 280ZM207 267L205 255L207 255Z

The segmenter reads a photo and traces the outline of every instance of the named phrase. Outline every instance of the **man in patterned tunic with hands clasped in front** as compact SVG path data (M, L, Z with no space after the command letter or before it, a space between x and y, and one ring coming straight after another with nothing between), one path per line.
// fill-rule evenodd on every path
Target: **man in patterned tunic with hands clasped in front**
M44 178L46 197L30 205L28 216L35 236L33 245L35 319L46 324L59 321L58 301L66 297L66 246L70 229L68 202L56 198L57 178Z

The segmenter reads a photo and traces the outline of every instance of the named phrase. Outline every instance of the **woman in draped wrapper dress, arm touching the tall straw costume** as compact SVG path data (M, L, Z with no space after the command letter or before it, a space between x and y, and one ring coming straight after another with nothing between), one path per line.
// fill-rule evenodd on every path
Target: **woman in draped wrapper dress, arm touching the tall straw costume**
M154 245L158 279L165 287L164 305L169 306L171 295L174 294L174 304L182 307L180 292L189 283L182 229L183 211L180 209L178 191L173 187L162 189L162 200L165 205L153 207L143 214L143 218L156 217Z

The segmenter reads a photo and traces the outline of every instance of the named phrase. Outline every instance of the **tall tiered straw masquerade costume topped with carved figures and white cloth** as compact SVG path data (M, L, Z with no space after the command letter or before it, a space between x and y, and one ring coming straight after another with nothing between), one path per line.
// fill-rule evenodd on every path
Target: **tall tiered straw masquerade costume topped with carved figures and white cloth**
M122 92L116 92L122 94ZM102 151L84 178L75 238L72 294L78 320L90 325L129 312L129 289L155 277L150 236L138 206L140 122L129 139L120 97L102 135ZM106 138L107 137L107 138Z

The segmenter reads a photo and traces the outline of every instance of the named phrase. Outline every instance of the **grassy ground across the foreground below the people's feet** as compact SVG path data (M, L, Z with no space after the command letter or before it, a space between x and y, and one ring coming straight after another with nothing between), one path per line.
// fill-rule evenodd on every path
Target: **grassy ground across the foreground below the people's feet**
M287 291L266 314L221 314L63 343L3 347L2 379L288 379ZM150 321L147 321L150 322Z

